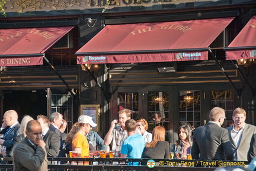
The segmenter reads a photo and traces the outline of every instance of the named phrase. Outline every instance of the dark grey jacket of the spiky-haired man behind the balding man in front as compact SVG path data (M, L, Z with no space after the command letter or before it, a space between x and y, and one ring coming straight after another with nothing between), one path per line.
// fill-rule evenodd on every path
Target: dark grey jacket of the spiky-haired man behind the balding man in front
M44 142L46 143L46 153L47 157L57 157L59 155L59 136L51 131L50 129L43 137Z

